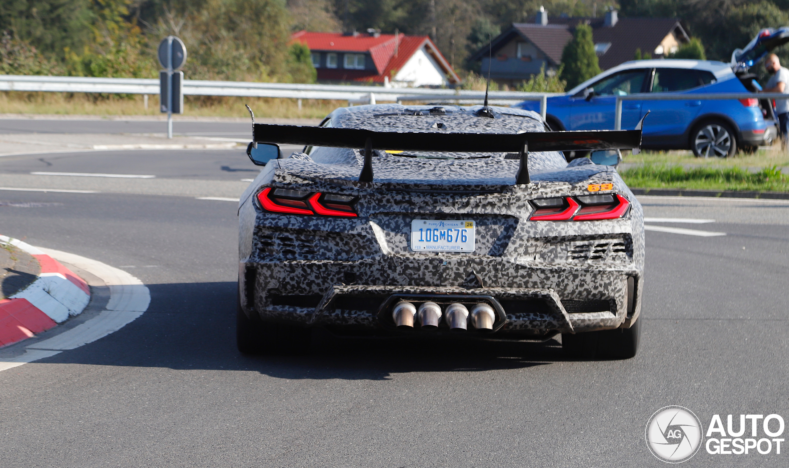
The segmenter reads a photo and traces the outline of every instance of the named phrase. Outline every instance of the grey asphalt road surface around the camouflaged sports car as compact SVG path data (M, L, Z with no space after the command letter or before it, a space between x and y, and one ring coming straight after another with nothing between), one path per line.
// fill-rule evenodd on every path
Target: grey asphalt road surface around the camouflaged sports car
M124 153L114 172L163 183L253 168L230 152ZM0 159L0 175L39 170L40 157ZM110 157L45 159L99 172ZM568 361L555 342L318 334L305 356L251 358L234 346L237 205L145 190L0 190L2 234L151 290L148 312L120 331L0 373L0 466L664 466L644 441L663 406L686 406L705 429L712 414L789 419L789 201L641 197L649 217L716 220L651 225L726 235L647 232L630 360ZM685 465L787 456L701 448Z

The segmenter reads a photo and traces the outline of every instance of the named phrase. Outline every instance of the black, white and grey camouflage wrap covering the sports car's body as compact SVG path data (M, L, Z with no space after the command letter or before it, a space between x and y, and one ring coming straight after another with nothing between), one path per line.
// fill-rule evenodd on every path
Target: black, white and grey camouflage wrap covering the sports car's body
M331 125L477 133L544 129L539 114L525 110L495 108L497 118L492 119L474 115L476 108L444 107L445 115L430 114L431 108L342 108L331 114ZM418 112L426 115L413 115ZM589 159L567 164L556 152L529 153L531 183L514 185L518 160L511 155L420 156L376 151L372 183L357 182L362 166L357 150L313 148L310 155L294 153L268 163L246 189L238 211L239 291L245 313L376 331L387 326L376 301L418 293L488 295L510 304L507 323L496 337L627 328L638 318L643 212L615 169ZM529 221L529 200L589 195L589 184L604 183L613 189L597 193L619 193L630 201L623 218ZM255 197L265 187L358 197L358 217L265 212ZM476 249L413 252L413 219L473 220ZM314 303L275 305L272 299L294 297ZM348 298L342 306L335 300L340 297ZM354 298L360 299L358 306ZM518 309L535 298L544 304L541 309ZM604 310L583 311L593 303L605 305Z

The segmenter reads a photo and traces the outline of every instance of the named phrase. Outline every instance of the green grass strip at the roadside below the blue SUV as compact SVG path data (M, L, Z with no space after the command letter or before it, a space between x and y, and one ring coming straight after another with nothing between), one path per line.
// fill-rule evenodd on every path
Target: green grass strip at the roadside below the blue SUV
M619 174L630 187L644 189L789 192L789 177L777 166L751 172L742 167L682 167L648 163L621 170Z

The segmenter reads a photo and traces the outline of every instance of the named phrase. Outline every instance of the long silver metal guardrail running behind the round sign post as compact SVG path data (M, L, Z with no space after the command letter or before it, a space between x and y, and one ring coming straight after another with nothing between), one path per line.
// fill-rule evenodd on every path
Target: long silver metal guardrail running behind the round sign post
M105 92L118 94L159 94L159 80L148 78L39 77L0 75L0 91ZM344 84L252 83L247 81L184 80L185 95L226 95L290 99L342 99L353 103L380 101L435 101L441 99L481 101L478 91L433 88L384 88ZM544 101L558 93L495 91L492 101ZM544 109L544 106L543 106Z

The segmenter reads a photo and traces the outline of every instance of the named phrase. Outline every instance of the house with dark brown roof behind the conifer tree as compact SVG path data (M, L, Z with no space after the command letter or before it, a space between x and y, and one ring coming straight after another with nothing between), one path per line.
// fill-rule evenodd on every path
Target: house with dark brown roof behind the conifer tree
M564 46L573 38L578 24L589 24L600 69L609 69L633 60L636 50L663 58L690 40L677 18L619 18L610 9L602 18L558 17L548 21L540 7L534 23L514 23L512 27L485 44L470 58L481 62L483 74L500 84L518 84L540 73L555 73L562 62ZM488 54L491 60L488 60Z

